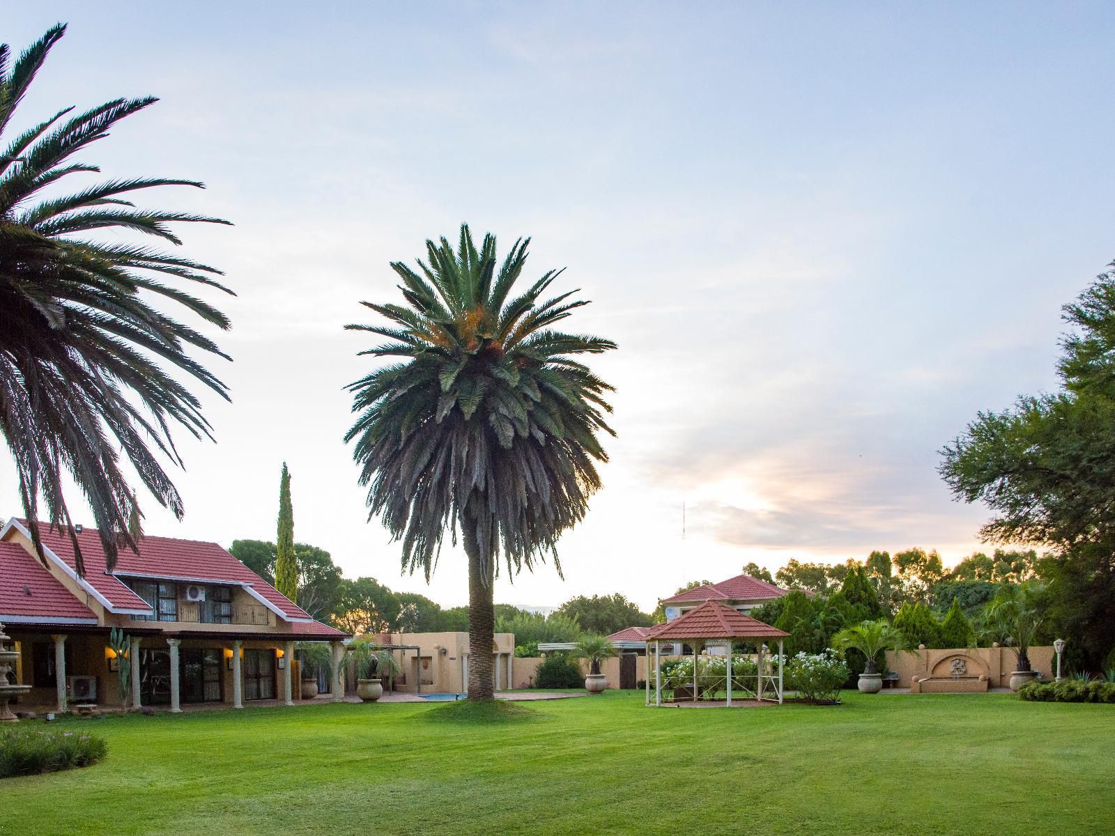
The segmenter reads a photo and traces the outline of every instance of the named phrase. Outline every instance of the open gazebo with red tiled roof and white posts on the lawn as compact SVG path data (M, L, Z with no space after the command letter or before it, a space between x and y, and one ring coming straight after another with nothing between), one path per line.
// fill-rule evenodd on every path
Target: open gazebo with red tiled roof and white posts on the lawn
M755 690L753 692L754 699L764 700L767 699L772 702L775 701L774 697L765 697L765 693L770 691L777 697L777 701L782 703L782 673L783 673L783 639L785 639L789 633L785 633L782 630L770 626L769 624L764 624L762 621L750 618L749 615L744 615L738 610L734 610L726 604L721 604L719 601L706 601L700 606L690 610L686 614L675 619L673 621L668 621L665 624L659 624L658 626L651 628L650 632L647 633L647 654L650 655L651 647L653 647L655 652L655 698L653 704L662 704L662 667L661 667L661 654L660 647L661 642L685 642L692 647L694 653L694 686L692 686L692 698L694 702L697 702L700 696L700 683L698 682L698 653L701 645L709 642L719 644L724 643L727 645L727 674L725 677L725 686L727 692L726 704L731 707L731 643L734 641L748 641L756 642L758 644L758 658L757 673ZM778 674L766 673L765 664L766 659L764 658L764 640L777 639L778 640ZM737 678L738 679L738 678ZM744 692L750 691L746 686L741 686ZM769 690L768 690L768 688ZM647 704L651 704L651 693L650 693L650 675L647 675Z

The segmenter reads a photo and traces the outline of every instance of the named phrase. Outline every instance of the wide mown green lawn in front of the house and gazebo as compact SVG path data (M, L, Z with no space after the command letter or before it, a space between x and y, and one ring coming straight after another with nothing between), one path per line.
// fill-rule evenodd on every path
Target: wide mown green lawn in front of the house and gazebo
M845 700L678 710L610 692L532 703L527 722L434 703L69 720L108 757L0 781L0 834L1115 833L1115 707Z

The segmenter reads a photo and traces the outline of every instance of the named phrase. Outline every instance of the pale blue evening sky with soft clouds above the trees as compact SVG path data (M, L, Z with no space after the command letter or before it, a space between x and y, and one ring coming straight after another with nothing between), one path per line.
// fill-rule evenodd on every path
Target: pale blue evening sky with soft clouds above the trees
M620 347L592 361L618 435L564 580L504 575L496 602L649 610L752 561L981 547L939 450L1056 387L1060 305L1115 257L1115 7L316 6L0 6L17 50L70 25L17 128L157 95L81 162L204 181L145 205L234 223L181 230L236 292L206 297L232 402L203 393L217 441L178 434L186 515L140 495L148 533L274 539L285 460L298 541L466 603L462 554L427 585L368 519L342 436L374 361L342 327L467 222L532 236L527 274L593 301L566 324ZM16 484L2 453L6 518Z

